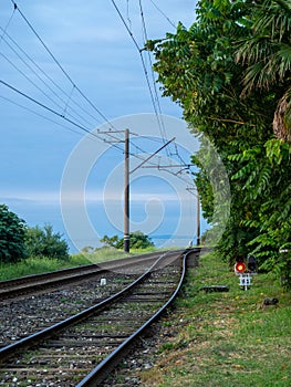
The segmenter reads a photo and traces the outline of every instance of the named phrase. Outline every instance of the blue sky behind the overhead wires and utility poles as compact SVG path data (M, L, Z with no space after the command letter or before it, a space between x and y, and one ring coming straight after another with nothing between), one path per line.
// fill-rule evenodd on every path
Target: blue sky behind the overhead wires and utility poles
M136 43L143 48L139 1L116 0L115 3ZM162 135L166 140L176 137L169 150L164 149L152 159L153 169L139 168L131 176L131 229L148 232L154 240L158 236L170 236L173 239L178 237L180 244L187 243L195 236L196 222L196 198L193 191L186 190L191 182L190 175L178 167L159 170L157 165L177 164L180 158L190 163L189 156L197 146L195 140L190 145L187 126L178 121L180 108L170 100L162 98L159 91L159 106L166 124L164 128L162 125L163 133L160 125L149 127L155 114L141 55L113 2L19 0L17 4L17 10L11 0L1 4L0 80L86 130L93 130L94 135L86 135L0 83L0 202L7 203L29 226L51 223L55 231L64 233L67 240L72 239L71 251L87 244L95 245L98 237L105 233L122 236L121 140L124 134L114 135L118 143L110 144L103 142L104 138L108 140L108 136L100 135L100 132L111 128L108 122L114 123L114 128L118 130L131 125L131 168L163 146ZM173 23L181 21L189 27L195 20L196 1L193 0L146 0L142 4L148 39L174 33ZM76 87L48 54L23 15ZM152 76L146 55L144 61ZM96 148L91 161L86 160L91 148L89 144L92 149ZM85 149L84 154L75 161L74 155L80 149ZM74 169L70 163L71 166L76 163ZM74 194L70 191L72 187L67 179L71 176L74 182L77 169L86 178L83 181L80 177L83 196L72 201ZM66 187L63 181L66 181ZM76 186L72 189L79 190ZM73 205L70 201L66 208L65 198ZM91 233L84 232L86 228L77 220L79 206L85 209L92 226ZM72 213L69 220L67 211ZM184 227L177 226L179 222ZM75 227L73 231L70 230L72 223ZM178 243L178 239L172 242Z

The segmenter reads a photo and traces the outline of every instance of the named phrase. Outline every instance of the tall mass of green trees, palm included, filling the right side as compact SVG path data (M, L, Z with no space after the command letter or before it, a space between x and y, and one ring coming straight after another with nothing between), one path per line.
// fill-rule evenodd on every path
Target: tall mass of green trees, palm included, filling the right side
M193 132L207 136L227 169L231 209L218 251L230 264L256 253L287 287L289 255L279 251L291 242L290 30L290 1L201 0L188 30L179 24L175 34L147 44L164 95L183 107ZM204 140L193 163L211 222L219 176Z

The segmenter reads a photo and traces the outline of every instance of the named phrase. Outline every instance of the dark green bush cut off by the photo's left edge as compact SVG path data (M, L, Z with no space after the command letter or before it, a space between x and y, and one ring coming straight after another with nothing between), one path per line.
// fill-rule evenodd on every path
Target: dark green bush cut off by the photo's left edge
M24 220L0 205L0 262L18 262L25 257L24 233Z

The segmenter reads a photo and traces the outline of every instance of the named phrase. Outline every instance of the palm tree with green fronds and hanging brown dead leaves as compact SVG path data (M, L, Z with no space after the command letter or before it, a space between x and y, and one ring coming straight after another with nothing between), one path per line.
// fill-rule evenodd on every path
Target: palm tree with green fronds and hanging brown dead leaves
M247 95L254 90L282 90L273 117L276 137L291 143L291 0L256 1L251 35L240 43L237 61L247 64Z

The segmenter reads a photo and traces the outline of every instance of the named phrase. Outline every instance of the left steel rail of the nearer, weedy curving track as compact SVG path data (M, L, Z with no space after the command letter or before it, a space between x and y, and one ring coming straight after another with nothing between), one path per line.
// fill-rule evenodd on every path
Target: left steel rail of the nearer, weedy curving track
M132 282L129 285L127 285L122 291L115 293L114 295L112 295L112 296L103 300L102 302L86 308L85 311L82 311L82 312L80 312L80 313L77 313L69 318L65 318L56 324L53 324L48 328L44 328L44 330L37 332L30 336L27 336L27 337L15 342L15 343L12 343L8 346L0 348L0 363L6 360L8 357L10 357L14 352L18 352L18 351L23 349L23 348L29 348L32 345L35 345L37 343L40 343L46 338L55 336L56 333L63 331L67 326L86 318L87 316L94 314L95 312L103 310L105 306L110 305L114 301L121 299L126 293L128 293L129 290L132 290L134 286L136 286L138 283L141 283L144 279L146 279L150 274L150 272L155 268L158 266L160 261L166 258L166 255L168 253L173 253L173 252L166 252L166 253L163 253L162 255L159 255L159 258L150 265L149 269L146 270L145 273L143 273L134 282Z

